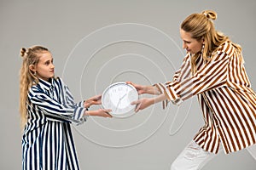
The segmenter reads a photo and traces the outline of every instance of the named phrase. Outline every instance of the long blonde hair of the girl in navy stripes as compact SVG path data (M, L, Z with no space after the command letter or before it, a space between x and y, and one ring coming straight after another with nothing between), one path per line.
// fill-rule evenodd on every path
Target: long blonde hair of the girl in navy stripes
M29 69L29 65L37 65L40 55L43 52L48 52L47 48L42 46L33 46L31 48L21 48L20 56L23 58L23 62L20 68L20 120L21 127L24 127L27 121L26 102L29 88L33 84L38 83L38 77L36 72Z

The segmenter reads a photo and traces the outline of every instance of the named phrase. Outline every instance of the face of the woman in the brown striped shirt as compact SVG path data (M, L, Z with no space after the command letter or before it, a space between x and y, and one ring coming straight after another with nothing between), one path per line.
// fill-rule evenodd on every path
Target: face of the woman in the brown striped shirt
M191 34L187 31L180 29L180 37L183 40L183 48L187 50L190 54L197 54L201 51L203 40L197 41L195 38L191 37Z

